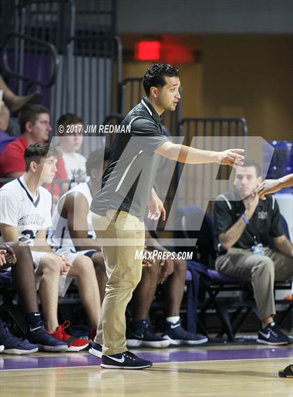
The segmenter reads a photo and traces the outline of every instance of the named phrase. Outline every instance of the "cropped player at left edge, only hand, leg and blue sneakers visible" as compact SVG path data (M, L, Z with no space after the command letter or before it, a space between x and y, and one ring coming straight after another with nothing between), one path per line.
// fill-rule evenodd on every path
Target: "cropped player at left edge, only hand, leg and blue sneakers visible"
M10 334L6 324L0 320L0 345L4 346L4 353L7 354L30 354L41 350L48 352L64 352L67 350L66 343L55 339L47 334L44 323L38 311L38 298L36 292L36 279L33 271L33 258L28 246L20 246L18 242L1 244L0 249L13 257L10 275L12 276L13 285L20 299L20 304L25 313L25 322L27 324L27 340L17 338ZM11 264L6 258L6 264ZM3 274L3 265L0 263L0 284L1 275ZM6 270L6 275L8 270Z

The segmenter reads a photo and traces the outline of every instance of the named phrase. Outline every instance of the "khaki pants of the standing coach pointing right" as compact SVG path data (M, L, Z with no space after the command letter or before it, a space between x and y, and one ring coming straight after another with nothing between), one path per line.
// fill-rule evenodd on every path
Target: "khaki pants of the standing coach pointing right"
M135 259L135 251L144 249L144 223L116 210L107 211L107 216L91 213L91 219L98 238L105 239L102 253L108 277L95 342L103 345L103 354L118 354L127 350L126 306L142 277L142 260Z

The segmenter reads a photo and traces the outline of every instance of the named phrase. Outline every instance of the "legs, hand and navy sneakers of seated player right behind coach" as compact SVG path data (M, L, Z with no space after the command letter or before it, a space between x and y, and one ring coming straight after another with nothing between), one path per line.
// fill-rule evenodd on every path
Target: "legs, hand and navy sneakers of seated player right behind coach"
M156 249L160 252L169 252L160 246L149 231L146 231L146 239L150 239L151 246L147 249L151 252ZM167 347L168 345L200 345L207 342L202 335L192 334L181 325L179 310L183 299L186 280L186 260L144 260L142 279L133 292L131 301L133 310L133 322L126 332L128 347L149 346ZM158 284L165 283L165 322L163 336L156 335L147 320L149 309L153 301Z

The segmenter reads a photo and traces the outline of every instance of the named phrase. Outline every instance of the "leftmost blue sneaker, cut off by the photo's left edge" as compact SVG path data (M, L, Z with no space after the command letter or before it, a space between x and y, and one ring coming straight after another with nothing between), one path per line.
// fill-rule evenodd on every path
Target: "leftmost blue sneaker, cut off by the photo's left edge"
M38 352L37 345L10 334L4 322L0 322L0 345L4 347L2 353L6 354L31 354Z

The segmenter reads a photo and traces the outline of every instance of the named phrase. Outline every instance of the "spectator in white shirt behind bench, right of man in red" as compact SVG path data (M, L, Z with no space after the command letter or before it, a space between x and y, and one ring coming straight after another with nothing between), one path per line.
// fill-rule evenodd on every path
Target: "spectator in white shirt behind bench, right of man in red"
M87 159L77 151L82 146L84 121L77 114L67 113L59 117L57 130L59 147L62 152L67 179L84 182L87 179ZM63 128L63 132L61 132Z

